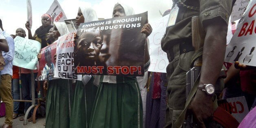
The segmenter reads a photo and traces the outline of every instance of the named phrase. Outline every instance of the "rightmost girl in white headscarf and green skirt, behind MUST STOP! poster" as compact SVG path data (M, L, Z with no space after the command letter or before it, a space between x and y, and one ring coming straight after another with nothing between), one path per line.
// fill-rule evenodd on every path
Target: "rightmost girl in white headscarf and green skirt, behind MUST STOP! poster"
M112 16L115 18L132 14L134 11L131 7L117 3L114 6ZM146 36L150 35L151 32L150 24L145 24L141 29L141 33L145 33ZM149 57L144 60L144 64L149 66L148 61ZM102 76L100 81L95 98L97 102L94 102L93 105L90 127L142 127L142 101L136 77ZM106 122L106 120L108 121Z

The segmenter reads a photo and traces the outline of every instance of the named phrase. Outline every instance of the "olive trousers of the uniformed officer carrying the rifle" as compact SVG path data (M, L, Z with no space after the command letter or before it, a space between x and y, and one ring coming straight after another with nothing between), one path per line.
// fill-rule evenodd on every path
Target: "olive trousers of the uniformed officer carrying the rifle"
M190 63L194 51L181 53L179 44L173 46L169 51L174 59L166 68L168 86L166 90L166 125L165 128L171 128L177 120L186 103L186 73L190 69Z

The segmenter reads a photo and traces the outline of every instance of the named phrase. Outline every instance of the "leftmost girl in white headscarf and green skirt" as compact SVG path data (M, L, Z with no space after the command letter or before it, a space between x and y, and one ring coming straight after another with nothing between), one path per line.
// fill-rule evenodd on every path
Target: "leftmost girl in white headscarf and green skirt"
M64 22L55 22L53 29L55 39L68 33ZM47 81L44 84L47 84ZM69 85L69 79L49 81L46 94L46 128L69 128Z

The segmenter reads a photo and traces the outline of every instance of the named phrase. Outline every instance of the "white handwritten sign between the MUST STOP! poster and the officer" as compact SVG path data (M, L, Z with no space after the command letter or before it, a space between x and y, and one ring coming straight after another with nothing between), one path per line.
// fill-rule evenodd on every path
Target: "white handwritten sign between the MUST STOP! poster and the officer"
M149 55L150 66L148 71L166 73L166 66L169 64L167 54L161 48L161 39L166 33L166 26L168 24L169 15L152 22L152 33L148 36L149 39Z

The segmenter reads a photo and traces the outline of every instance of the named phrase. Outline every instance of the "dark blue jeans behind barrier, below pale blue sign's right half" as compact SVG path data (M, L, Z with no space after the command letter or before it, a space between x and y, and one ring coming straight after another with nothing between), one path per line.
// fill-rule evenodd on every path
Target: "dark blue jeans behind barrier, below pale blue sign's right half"
M34 78L38 73L34 73ZM22 93L24 100L32 100L32 91L31 91L31 74L30 73L21 73L21 82L22 82ZM35 98L37 98L36 88L38 87L38 82L35 81ZM32 105L31 102L24 102L25 104L25 112ZM29 117L33 114L33 109L31 109L29 113Z

